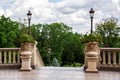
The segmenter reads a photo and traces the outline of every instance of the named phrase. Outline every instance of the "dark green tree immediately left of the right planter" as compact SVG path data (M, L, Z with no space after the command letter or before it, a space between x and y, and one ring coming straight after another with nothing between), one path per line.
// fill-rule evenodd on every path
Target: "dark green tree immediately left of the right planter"
M69 32L65 36L62 65L71 65L74 62L84 63L82 35Z

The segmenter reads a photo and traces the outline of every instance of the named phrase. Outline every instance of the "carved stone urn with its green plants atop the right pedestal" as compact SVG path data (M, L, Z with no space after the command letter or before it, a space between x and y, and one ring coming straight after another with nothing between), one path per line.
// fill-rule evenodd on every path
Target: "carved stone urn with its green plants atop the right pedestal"
M102 38L99 34L92 33L92 34L85 34L82 42L85 43L84 52L95 51L99 52L99 43L102 43Z

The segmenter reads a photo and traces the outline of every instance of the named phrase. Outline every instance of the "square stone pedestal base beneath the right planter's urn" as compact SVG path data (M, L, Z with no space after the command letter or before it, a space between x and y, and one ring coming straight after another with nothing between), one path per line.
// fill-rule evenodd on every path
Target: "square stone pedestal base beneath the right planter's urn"
M97 57L86 57L87 59L87 69L85 72L95 72L97 73Z

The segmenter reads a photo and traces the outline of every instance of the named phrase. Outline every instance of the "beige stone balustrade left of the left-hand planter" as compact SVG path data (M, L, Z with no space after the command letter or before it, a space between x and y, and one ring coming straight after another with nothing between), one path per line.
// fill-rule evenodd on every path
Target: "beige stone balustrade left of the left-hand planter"
M19 64L21 48L0 48L0 64Z

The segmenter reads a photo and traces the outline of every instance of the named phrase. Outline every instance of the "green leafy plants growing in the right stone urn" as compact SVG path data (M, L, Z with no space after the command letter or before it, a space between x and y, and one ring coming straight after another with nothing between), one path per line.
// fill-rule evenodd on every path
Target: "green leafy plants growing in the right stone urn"
M92 33L92 34L85 34L83 39L83 43L88 43L88 42L99 42L102 43L102 38L100 34Z

